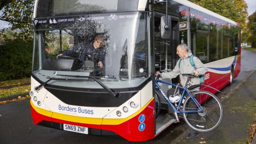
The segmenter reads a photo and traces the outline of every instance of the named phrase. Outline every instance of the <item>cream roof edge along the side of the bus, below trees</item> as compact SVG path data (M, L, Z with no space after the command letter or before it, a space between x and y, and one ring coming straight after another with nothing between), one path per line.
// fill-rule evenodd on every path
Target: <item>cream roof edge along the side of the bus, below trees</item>
M217 14L217 13L215 13L215 12L212 12L212 11L210 11L210 10L208 10L208 9L205 9L205 8L203 8L202 6L196 5L195 3L192 3L192 2L190 2L190 1L188 1L188 0L173 0L173 1L175 1L175 2L177 2L177 3L181 3L181 4L185 5L185 6L189 6L189 7L193 8L193 9L196 9L196 10L198 10L198 11L200 11L200 12L204 12L204 13L206 13L206 14L208 14L208 15L215 16L216 18L220 18L220 19L223 20L223 21L227 21L227 22L229 22L229 23L235 24L235 25L237 25L237 26L240 27L240 24L239 24L239 23L237 23L237 22L235 22L235 21L232 21L232 20L229 19L229 18L225 18L224 16L219 15L219 14Z

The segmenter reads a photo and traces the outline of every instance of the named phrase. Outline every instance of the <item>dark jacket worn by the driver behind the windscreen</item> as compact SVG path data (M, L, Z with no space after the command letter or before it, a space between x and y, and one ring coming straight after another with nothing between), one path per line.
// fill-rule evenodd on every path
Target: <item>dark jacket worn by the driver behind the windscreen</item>
M105 54L102 48L94 48L93 42L81 42L75 45L72 50L64 51L62 55L77 57L78 60L84 62L84 60L94 60L95 54L99 54L99 61L102 63L105 59Z

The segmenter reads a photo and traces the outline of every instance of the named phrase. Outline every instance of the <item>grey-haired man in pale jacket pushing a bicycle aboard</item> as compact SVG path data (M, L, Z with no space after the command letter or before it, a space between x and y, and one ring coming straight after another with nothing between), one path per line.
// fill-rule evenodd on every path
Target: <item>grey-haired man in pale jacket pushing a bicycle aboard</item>
M160 72L156 72L157 75L161 75L161 78L176 78L178 75L180 75L181 85L184 87L187 82L187 77L182 76L182 74L189 74L194 73L195 78L192 78L191 81L189 81L188 87L196 84L200 84L200 78L199 75L204 75L205 72L207 72L207 68L204 66L204 64L199 60L198 57L193 57L193 61L196 65L195 69L191 63L190 63L190 57L193 55L188 46L186 44L180 44L177 46L177 54L180 57L180 60L176 63L175 68L172 70L172 72L163 72L162 74ZM199 87L198 87L199 89ZM195 138L199 135L198 132L196 132L193 129L190 129L190 134L187 135L185 138Z

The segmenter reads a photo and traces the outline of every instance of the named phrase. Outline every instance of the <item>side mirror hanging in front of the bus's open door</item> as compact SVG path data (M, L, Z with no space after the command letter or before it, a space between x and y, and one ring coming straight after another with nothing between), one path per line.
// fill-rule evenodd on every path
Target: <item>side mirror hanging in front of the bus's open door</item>
M169 15L167 16L167 24L166 24L166 16L163 15L161 17L160 31L161 31L162 39L170 39L172 35L172 19Z

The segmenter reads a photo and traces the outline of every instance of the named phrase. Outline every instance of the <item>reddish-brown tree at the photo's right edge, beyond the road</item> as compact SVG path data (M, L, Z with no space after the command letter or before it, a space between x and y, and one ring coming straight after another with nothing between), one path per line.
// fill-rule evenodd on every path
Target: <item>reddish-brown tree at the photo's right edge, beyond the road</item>
M248 41L252 43L252 48L256 48L256 11L252 15L250 15L248 19Z

